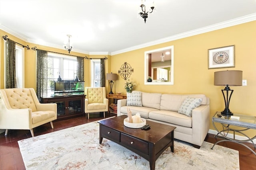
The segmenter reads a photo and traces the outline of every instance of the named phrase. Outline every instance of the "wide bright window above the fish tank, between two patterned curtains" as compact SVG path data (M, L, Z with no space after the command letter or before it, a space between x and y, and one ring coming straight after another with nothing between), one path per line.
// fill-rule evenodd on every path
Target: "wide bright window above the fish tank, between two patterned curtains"
M76 76L76 57L67 57L55 53L48 53L47 57L47 91L50 92L50 81L57 80L60 76L62 80L74 80ZM49 93L48 93L49 94Z

